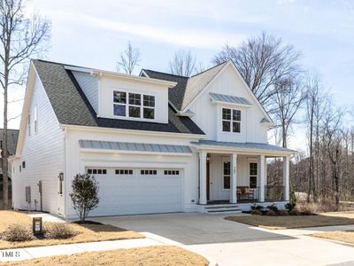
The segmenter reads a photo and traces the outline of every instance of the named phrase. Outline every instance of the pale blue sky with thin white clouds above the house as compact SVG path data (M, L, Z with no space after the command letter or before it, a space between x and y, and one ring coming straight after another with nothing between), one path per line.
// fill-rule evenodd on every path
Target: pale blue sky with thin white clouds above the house
M131 41L142 52L141 67L165 71L179 49L190 49L210 66L225 43L237 45L266 31L303 51L304 66L319 72L337 105L353 105L354 1L29 0L25 4L28 12L37 11L52 21L46 59L115 70L119 53ZM18 109L13 106L12 113ZM11 125L17 128L19 120Z

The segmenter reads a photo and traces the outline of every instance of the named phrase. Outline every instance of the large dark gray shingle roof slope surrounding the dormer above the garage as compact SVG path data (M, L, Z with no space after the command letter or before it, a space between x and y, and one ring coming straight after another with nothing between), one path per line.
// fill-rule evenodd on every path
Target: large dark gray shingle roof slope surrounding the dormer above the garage
M82 92L79 83L65 64L44 60L33 60L50 104L61 124L135 129L173 133L204 134L189 117L181 117L168 108L168 124L146 121L97 118L96 112Z

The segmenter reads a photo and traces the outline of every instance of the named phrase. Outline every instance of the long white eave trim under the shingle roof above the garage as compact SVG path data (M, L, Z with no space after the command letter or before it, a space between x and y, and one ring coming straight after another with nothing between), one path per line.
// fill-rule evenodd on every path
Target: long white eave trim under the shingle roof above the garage
M134 130L134 129L112 129L112 128L101 128L101 127L89 127L89 126L76 126L68 124L60 124L62 129L76 129L76 130L86 130L86 131L99 131L99 132L122 132L132 135L143 135L143 136L164 136L164 137L181 137L181 138L193 138L200 139L205 137L201 134L189 134L189 133L173 133L173 132L161 132L161 131L147 131L147 130Z

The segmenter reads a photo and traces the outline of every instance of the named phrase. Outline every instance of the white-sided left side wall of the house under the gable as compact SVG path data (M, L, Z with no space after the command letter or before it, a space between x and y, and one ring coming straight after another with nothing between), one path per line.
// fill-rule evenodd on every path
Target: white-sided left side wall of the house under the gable
M35 132L35 108L37 109L38 130ZM31 133L26 137L20 155L12 171L13 202L19 209L40 209L38 182L42 180L42 208L53 214L64 213L58 209L58 173L64 168L64 131L59 128L58 119L50 105L49 98L42 87L42 82L35 77L33 98L29 106ZM25 168L22 167L25 162ZM19 171L19 167L21 170ZM25 187L31 187L31 204L26 202Z

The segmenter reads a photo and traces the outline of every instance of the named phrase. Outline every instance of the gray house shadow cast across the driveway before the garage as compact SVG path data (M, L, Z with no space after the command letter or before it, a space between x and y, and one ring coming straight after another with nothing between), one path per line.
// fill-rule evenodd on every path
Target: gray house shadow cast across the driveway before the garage
M90 218L137 232L150 232L184 245L294 239L227 221L227 215L178 213L162 215L105 216Z

